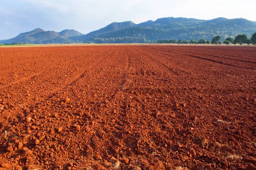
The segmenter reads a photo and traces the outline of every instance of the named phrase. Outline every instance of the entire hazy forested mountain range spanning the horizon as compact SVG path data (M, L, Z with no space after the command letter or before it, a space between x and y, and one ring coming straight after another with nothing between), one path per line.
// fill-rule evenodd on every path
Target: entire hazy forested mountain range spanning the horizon
M199 40L201 38L212 40L213 37L218 35L224 41L227 37L235 38L238 34L245 34L250 37L255 32L256 22L243 18L227 19L220 17L213 20L198 20L194 18L165 17L139 24L131 21L115 22L85 35L75 30L55 32L37 28L30 32L21 33L9 40L0 40L0 43L69 43L84 41L127 43L164 39Z

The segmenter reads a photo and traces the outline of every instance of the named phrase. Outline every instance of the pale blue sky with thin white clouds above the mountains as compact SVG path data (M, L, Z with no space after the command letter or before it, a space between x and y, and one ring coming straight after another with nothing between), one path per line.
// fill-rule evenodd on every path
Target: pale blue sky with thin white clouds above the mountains
M112 22L162 17L256 21L255 8L256 0L1 0L0 40L35 28L87 34Z

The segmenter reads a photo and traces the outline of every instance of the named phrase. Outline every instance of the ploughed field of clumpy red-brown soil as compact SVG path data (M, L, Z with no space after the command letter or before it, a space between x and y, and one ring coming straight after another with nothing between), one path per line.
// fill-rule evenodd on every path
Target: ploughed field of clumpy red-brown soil
M255 170L256 47L0 48L0 170Z

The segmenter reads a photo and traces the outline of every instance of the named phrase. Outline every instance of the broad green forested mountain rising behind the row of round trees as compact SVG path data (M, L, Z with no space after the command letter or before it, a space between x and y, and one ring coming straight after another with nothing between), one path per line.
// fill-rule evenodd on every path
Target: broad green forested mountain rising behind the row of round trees
M109 39L111 37L145 37L146 40L199 40L201 38L212 40L213 37L220 35L223 41L227 37L234 38L238 34L246 34L247 37L250 37L255 32L256 22L243 18L227 19L221 17L213 20L198 20L166 17L155 21L149 20L116 31L94 34L91 37L87 37L87 34L84 37L90 41L95 41L95 38Z

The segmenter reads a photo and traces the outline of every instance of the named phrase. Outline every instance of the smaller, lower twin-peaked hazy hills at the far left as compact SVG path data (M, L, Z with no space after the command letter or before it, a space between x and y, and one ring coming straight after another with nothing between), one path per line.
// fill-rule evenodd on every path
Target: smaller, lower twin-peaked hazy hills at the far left
M0 43L26 42L31 44L40 43L69 43L72 42L68 37L81 36L83 34L75 30L63 30L61 32L44 31L41 28L36 28L29 32L19 34L9 40L0 40Z

